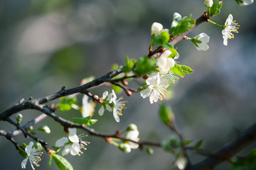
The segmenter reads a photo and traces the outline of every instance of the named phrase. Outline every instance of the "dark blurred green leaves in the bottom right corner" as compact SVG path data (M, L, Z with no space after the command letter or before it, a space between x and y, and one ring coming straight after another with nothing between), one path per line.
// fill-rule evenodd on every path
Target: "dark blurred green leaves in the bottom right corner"
M256 149L253 149L250 154L245 158L233 157L232 159L233 170L240 170L242 167L256 168Z

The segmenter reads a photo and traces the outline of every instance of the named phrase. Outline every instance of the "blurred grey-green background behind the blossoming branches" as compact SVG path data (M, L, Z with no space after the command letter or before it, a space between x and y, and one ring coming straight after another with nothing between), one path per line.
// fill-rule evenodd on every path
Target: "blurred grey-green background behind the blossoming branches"
M196 19L203 11L206 11L203 0L2 0L0 112L21 98L40 98L59 91L62 86L66 89L78 86L85 77L101 77L110 71L113 63L125 64L126 55L135 59L143 57L148 54L152 23L159 22L164 28L170 28L174 12L181 16L192 13ZM212 20L224 24L232 13L240 24L239 33L235 34L235 39L228 40L227 47L223 45L221 29L210 23L203 23L188 34L192 38L207 33L210 36L207 52L197 51L188 40L176 45L180 54L178 62L188 65L194 72L176 81L171 92L175 97L169 104L184 138L195 142L203 139L203 148L209 152L233 140L256 120L254 11L255 4L238 6L235 1L223 4L220 15ZM130 86L137 88L136 83ZM111 89L101 86L91 92L102 96L105 90ZM161 142L173 135L159 119L159 103L151 105L149 98L142 99L139 94L119 96L128 101L120 123L115 122L110 112L100 117L97 106L92 118L99 121L92 128L113 133L135 123L140 139L152 142ZM81 98L78 96L80 101ZM40 114L36 111L22 113L23 124ZM56 114L64 118L80 116L78 111L57 111ZM38 132L37 135L51 147L65 133L50 118L34 128L45 124L51 134ZM4 122L0 123L0 128L14 129ZM23 135L15 140L20 144L31 141ZM82 156L65 157L76 170L176 169L171 166L174 157L159 148L154 148L153 155L139 149L125 154L99 137L88 136L84 140L91 144ZM1 169L21 169L23 157L4 137L0 137L0 142ZM240 155L247 154L252 147L255 145L247 147ZM203 159L193 153L190 155L194 163ZM42 159L37 169L58 169L55 164L47 167L47 154ZM231 166L224 163L217 169L231 169Z

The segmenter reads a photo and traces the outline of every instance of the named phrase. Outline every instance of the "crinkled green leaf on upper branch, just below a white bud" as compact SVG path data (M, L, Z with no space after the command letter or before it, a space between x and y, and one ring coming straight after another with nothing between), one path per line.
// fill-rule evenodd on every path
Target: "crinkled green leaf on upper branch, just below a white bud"
M196 24L196 21L191 19L192 15L184 17L176 27L171 29L171 35L175 37L176 35L180 35L181 33L185 33L187 30L193 28Z

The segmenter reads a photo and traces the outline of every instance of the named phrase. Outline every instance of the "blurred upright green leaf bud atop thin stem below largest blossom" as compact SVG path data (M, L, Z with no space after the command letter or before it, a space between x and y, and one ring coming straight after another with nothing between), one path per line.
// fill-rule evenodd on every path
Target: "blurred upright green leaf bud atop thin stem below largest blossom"
M163 123L167 126L174 121L174 113L166 103L161 103L159 115Z

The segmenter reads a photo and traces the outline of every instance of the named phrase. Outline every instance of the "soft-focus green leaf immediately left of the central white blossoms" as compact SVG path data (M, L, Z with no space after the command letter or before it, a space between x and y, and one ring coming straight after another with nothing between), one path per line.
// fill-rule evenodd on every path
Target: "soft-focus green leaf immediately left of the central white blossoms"
M134 73L137 75L144 75L151 72L156 65L156 60L151 60L149 57L140 57L137 63L135 64Z

